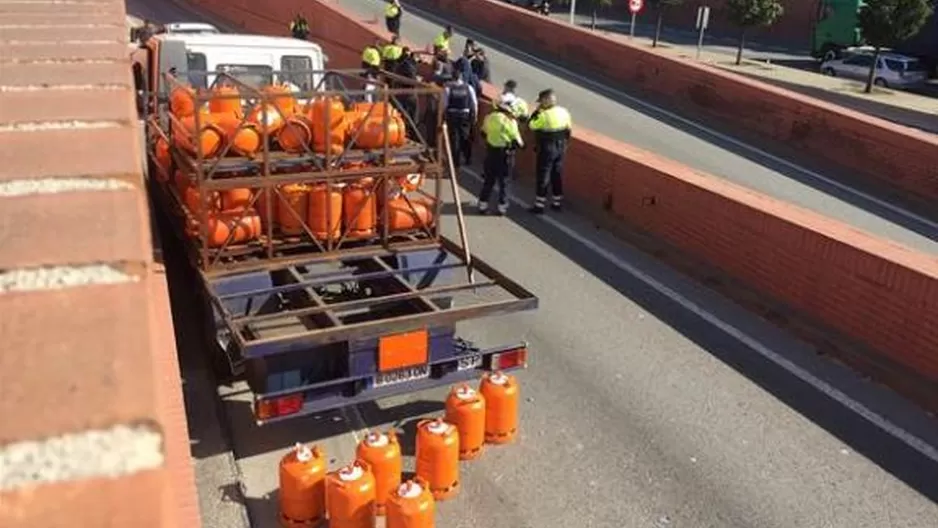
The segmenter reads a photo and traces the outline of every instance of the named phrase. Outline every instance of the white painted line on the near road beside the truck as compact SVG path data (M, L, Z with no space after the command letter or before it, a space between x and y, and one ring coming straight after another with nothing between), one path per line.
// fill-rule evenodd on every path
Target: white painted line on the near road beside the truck
M476 180L482 181L481 175L479 175L477 172L471 169L467 169L465 167L462 170L463 172L474 177ZM530 206L530 204L524 202L523 200L517 198L516 196L511 196L510 199L513 203L523 208L527 208ZM573 240L576 240L577 242L585 246L590 251L604 258L610 264L628 273L629 275L635 277L636 279L644 282L645 284L653 288L655 291L657 291L661 295L664 295L671 301L681 305L684 309L693 313L697 317L703 319L708 324L713 325L714 327L718 328L720 331L722 331L726 335L746 345L747 347L749 347L750 349L758 353L760 356L764 357L765 359L771 361L772 363L784 369L789 374L795 376L796 378L807 383L808 385L811 385L812 387L817 389L819 392L821 392L825 396L833 399L834 401L840 403L847 409L860 415L861 417L863 417L864 419L866 419L867 421L869 421L876 427L879 427L880 429L894 436L895 438L902 441L903 443L905 443L912 449L918 451L925 457L931 459L933 462L938 462L938 449L935 449L935 447L933 447L928 442L918 438L912 433L909 433L902 427L889 421L889 419L881 416L880 414L866 407L862 403L854 400L853 398L851 398L850 396L848 396L841 390L837 389L833 385L827 383L826 381L818 378L814 374L811 374L807 370L789 361L781 354L773 351L768 346L759 342L752 336L746 334L739 328L736 328L735 326L727 323L726 321L723 321L722 319L720 319L713 313L707 311L707 309L704 308L703 306L700 306L699 304L695 303L694 301L691 301L687 297L684 297L679 292L668 287L666 284L656 280L654 277L651 277L645 274L644 272L642 272L635 266L632 266L628 262L622 260L615 254L611 253L610 251L603 248L599 244L593 242L589 238L577 233L575 230L564 225L558 220L548 215L544 215L540 218L543 219L544 222L546 222L548 225L550 225L554 229L567 235Z

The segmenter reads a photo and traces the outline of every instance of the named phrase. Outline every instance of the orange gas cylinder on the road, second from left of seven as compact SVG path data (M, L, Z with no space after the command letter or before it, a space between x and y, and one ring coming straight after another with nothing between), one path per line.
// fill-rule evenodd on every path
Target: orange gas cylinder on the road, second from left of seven
M356 460L326 479L329 528L375 527L375 476L367 462Z

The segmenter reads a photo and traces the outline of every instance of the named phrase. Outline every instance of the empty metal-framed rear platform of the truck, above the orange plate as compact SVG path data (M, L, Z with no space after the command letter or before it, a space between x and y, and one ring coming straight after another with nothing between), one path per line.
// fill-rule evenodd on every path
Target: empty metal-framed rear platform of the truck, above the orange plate
M368 258L203 275L244 358L530 310L537 298L454 242ZM469 273L473 280L469 280Z

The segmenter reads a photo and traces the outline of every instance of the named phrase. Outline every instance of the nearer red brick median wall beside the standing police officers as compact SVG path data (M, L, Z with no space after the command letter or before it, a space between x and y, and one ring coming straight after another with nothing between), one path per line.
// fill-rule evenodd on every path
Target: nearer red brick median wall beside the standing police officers
M214 7L220 2L200 0L222 15L224 10ZM386 36L377 24L361 22L332 3L315 4L314 40L319 41L317 31L345 34L347 45L361 48ZM291 17L283 15L283 27ZM555 35L562 38L563 31L572 29L561 27ZM352 40L356 37L360 40ZM333 53L328 43L324 46ZM497 96L495 87L483 87L482 115ZM564 164L564 195L591 219L650 235L734 277L761 298L849 336L873 359L855 362L857 368L938 408L934 259L582 128L574 131ZM530 178L533 172L533 151L526 149L518 156L518 174Z

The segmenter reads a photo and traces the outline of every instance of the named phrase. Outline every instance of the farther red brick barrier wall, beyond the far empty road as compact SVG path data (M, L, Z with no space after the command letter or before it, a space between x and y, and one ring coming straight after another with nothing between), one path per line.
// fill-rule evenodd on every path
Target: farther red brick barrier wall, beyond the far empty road
M407 3L577 72L702 112L905 192L938 198L934 134L573 27L500 0Z

